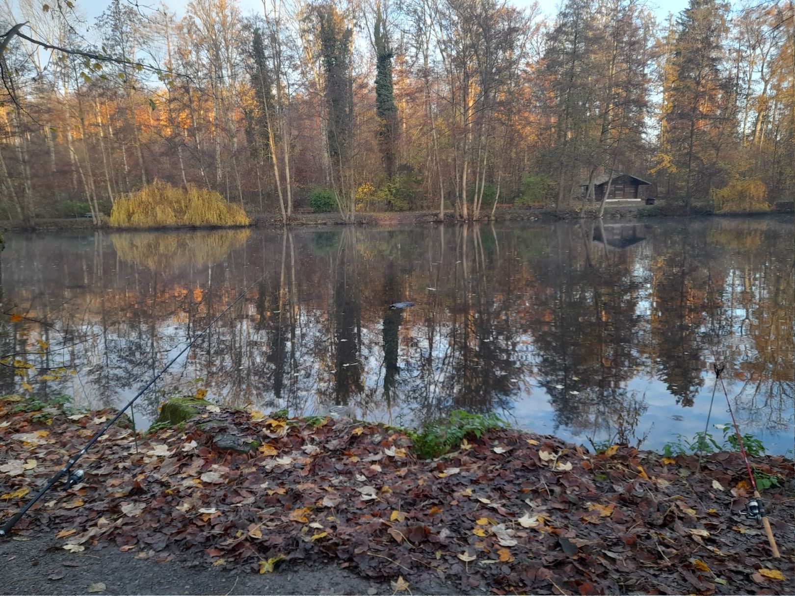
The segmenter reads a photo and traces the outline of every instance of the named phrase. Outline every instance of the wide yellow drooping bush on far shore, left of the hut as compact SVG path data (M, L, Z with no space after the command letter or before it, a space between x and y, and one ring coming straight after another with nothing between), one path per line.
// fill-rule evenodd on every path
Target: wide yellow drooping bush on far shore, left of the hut
M207 188L177 188L155 180L138 192L122 195L111 210L111 226L247 226L240 205L227 203Z

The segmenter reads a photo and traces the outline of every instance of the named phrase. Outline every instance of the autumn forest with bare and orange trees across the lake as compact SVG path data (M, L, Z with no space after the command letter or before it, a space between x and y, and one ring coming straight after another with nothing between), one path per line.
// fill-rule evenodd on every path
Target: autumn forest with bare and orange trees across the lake
M155 181L248 214L559 211L629 172L684 212L795 195L795 6L111 0L0 8L0 217ZM610 184L608 182L608 186Z

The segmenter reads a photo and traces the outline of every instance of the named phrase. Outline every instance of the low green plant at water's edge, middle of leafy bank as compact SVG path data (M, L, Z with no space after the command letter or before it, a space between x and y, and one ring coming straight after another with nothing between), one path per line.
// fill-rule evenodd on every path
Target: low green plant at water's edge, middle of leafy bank
M419 430L409 430L406 435L411 439L417 456L431 459L458 447L467 435L480 437L484 432L504 428L506 424L493 412L483 415L453 410L447 418L423 424Z

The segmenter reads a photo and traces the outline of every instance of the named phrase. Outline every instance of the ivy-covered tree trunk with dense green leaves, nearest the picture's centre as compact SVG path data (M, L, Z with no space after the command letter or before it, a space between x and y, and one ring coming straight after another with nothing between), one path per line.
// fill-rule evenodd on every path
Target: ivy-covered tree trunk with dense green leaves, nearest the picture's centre
M389 32L382 12L381 2L375 6L375 114L378 117L378 145L386 176L395 172L395 143L397 134L397 106L392 88L392 59Z

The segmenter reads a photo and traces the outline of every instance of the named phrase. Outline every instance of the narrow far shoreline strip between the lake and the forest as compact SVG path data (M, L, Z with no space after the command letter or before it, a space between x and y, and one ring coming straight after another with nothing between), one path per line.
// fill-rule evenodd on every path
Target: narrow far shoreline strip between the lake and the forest
M579 208L566 209L560 212L555 212L553 209L548 208L529 208L529 207L504 207L494 212L494 217L485 217L483 219L463 222L461 220L453 219L452 211L445 213L444 223L447 224L461 224L461 223L502 223L502 222L556 222L556 221L577 221L577 220L596 220L599 219L598 208L587 209L584 213L580 214ZM791 211L777 211L771 209L770 211L753 211L753 212L729 212L729 213L715 213L709 210L703 210L689 215L684 215L670 206L664 207L661 205L611 205L607 207L603 214L603 220L613 221L616 219L653 219L653 218L761 218L761 217L791 217ZM176 230L231 230L235 228L245 227L261 227L261 228L281 228L285 224L281 221L281 216L277 213L273 214L252 214L250 215L251 223L248 226L153 226L153 227L136 227L136 228L116 228L103 224L101 226L94 226L89 218L80 219L65 219L65 218L43 218L37 219L34 230L28 230L21 226L18 222L2 220L0 222L0 230L12 232L52 232L52 231L70 231L70 230L111 230L119 232L153 232L153 231L176 231ZM348 224L337 213L312 213L304 215L293 215L293 219L289 221L287 226L290 227L321 227L321 226L370 226L370 227L384 227L395 225L429 225L443 223L435 211L383 211L373 213L357 213L355 222Z

